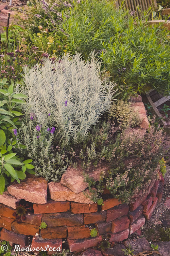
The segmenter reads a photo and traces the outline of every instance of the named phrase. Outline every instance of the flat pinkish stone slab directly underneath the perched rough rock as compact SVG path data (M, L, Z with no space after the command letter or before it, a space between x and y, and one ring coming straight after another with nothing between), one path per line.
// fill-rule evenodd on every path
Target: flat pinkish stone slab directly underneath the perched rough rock
M74 201L78 203L94 203L90 198L91 196L88 189L84 192L80 192L78 194L74 193L71 189L65 187L60 182L50 182L48 183L50 197L54 201Z

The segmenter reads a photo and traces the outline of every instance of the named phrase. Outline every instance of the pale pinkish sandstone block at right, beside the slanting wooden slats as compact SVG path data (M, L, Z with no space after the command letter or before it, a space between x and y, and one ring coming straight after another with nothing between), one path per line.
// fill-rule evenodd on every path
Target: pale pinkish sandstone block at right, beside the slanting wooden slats
M139 124L139 127L144 129L149 129L149 121L146 116L146 110L143 102L132 102L131 108L133 108L134 112L139 113L139 117L141 119L141 123Z

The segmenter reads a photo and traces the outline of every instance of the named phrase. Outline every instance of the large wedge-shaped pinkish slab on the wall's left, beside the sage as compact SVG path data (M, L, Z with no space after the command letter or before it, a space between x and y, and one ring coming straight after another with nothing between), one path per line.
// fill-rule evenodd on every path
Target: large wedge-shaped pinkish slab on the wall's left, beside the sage
M31 203L45 204L47 202L48 182L41 177L28 177L21 183L13 182L7 187L8 192Z

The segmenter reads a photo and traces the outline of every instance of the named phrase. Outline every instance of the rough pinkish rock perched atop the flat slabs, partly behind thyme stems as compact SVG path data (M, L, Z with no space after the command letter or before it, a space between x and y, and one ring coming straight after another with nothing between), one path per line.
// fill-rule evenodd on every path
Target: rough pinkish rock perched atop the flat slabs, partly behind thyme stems
M94 167L94 170L90 171L89 177L98 181L101 173L106 170L108 170L106 166ZM61 184L71 189L74 193L80 193L88 187L88 183L84 181L83 169L80 166L77 168L68 167L62 175Z

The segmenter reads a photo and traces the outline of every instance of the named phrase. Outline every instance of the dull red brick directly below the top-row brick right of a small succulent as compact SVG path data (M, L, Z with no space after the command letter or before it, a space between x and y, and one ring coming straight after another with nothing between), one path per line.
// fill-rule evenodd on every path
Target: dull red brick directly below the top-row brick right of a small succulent
M106 222L113 221L128 214L129 206L127 204L119 204L106 211Z

